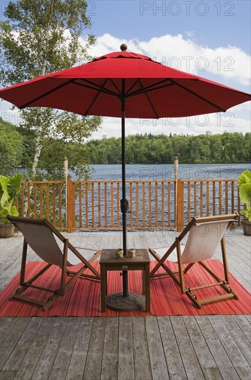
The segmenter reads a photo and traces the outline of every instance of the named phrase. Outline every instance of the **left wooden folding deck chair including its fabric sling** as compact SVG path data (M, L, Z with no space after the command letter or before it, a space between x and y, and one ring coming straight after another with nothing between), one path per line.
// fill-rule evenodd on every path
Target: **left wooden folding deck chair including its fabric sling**
M24 235L24 246L23 254L21 259L21 274L20 274L20 285L19 289L10 297L12 299L17 299L19 301L24 301L38 305L42 307L43 310L47 310L48 307L53 305L56 299L59 296L64 296L66 289L75 281L78 277L89 278L100 280L100 274L97 270L91 265L93 261L100 256L101 251L96 251L92 256L91 260L86 260L82 254L71 243L68 242L68 239L64 238L53 225L48 222L46 219L35 219L35 218L22 218L15 216L8 216L8 220L21 231ZM64 243L64 248L60 249L59 245L55 239L55 236ZM32 248L33 251L39 256L42 260L46 262L46 265L37 272L32 278L25 281L26 274L26 256L27 256L27 247L28 245ZM88 249L90 251L92 249ZM82 267L77 271L73 272L68 269L68 267L73 267L77 264L82 263ZM40 287L34 285L34 281L41 276L48 268L52 265L57 265L61 268L61 281L60 286L56 290L49 289L48 287ZM92 274L84 274L86 269L90 269ZM71 278L66 281L66 276ZM46 292L53 293L46 302L38 301L34 298L28 298L25 295L22 295L26 289L29 287L44 290Z

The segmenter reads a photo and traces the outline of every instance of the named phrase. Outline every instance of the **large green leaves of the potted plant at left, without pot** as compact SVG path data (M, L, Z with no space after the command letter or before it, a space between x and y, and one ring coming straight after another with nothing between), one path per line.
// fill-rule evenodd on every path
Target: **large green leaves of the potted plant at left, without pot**
M18 216L17 207L13 205L21 190L21 174L0 175L0 223L10 223L8 215Z

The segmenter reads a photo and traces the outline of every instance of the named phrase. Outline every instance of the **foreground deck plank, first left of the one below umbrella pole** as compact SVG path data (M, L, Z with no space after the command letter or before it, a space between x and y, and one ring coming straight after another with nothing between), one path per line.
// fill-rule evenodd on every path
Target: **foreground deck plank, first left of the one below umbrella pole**
M116 379L118 372L118 317L107 317L100 379Z

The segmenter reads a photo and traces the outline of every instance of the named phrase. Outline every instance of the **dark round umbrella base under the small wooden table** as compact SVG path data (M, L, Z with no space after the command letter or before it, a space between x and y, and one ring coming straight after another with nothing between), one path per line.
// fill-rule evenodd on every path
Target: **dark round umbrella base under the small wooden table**
M145 307L145 296L137 293L129 293L125 297L123 293L110 294L106 297L106 307L118 312L142 310Z

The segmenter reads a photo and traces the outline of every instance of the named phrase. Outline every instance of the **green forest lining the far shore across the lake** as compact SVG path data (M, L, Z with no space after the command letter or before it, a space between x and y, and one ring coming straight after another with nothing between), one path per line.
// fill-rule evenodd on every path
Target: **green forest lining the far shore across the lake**
M35 149L35 135L30 130L4 122L0 118L0 165L1 173L11 173L17 167L30 168ZM177 155L180 163L238 163L250 162L251 133L228 133L213 135L153 135L137 134L126 137L127 163L169 164ZM120 164L121 138L102 137L85 144L66 142L47 137L42 152L40 169L50 171L51 179L60 173L50 167L61 167L67 156L69 169L83 164ZM55 165L55 160L58 165ZM88 174L88 169L85 169ZM75 169L76 171L76 169ZM83 173L79 173L83 176ZM53 178L54 177L54 178ZM83 178L83 177L82 177Z

